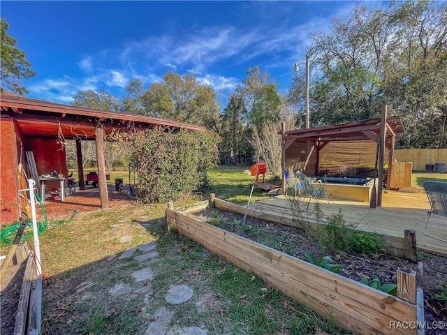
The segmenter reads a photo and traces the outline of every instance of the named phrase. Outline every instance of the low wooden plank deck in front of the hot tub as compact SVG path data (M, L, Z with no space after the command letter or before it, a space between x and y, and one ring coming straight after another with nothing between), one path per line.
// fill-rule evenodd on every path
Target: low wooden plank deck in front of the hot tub
M382 207L369 208L367 202L330 199L330 205L321 200L321 209L325 218L338 214L341 209L346 224L359 230L378 232L390 236L404 237L404 230L416 231L418 250L447 256L447 243L428 237L423 232L430 204L425 193L402 193L384 191ZM251 204L261 211L292 215L291 204L284 197L261 200ZM441 239L447 239L447 219L432 215L427 225L427 232Z

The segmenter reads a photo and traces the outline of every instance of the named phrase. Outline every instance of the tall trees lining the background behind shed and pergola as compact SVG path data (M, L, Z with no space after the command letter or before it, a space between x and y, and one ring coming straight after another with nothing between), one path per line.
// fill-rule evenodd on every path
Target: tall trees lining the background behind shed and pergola
M26 92L17 78L34 73L24 52L12 52L1 20L1 91ZM312 35L310 56L310 124L343 124L379 117L381 105L402 119L406 132L396 148L447 147L447 3L392 1L383 8L356 7L345 20L334 20L328 33ZM8 36L10 37L10 36ZM19 50L20 51L20 50ZM20 68L14 68L15 57ZM12 79L8 82L8 78ZM253 154L277 166L279 125L305 125L305 77L296 73L287 91L280 91L258 66L221 106L217 92L193 73L169 72L145 88L130 80L121 98L106 91L78 91L73 105L144 114L200 124L221 137L221 159ZM273 139L273 140L272 140Z

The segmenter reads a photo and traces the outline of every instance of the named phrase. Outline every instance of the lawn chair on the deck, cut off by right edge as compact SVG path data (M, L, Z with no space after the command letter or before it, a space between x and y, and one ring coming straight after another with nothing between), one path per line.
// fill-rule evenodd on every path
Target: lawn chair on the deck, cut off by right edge
M424 224L424 233L434 239L439 239L439 241L447 242L445 239L440 239L439 237L428 234L425 229L427 228L428 221L432 214L444 216L447 218L447 182L445 181L433 181L428 180L423 184L425 193L427 193L428 201L430 202L430 211L427 214L427 220ZM446 221L444 221L446 223ZM447 227L447 223L446 223Z

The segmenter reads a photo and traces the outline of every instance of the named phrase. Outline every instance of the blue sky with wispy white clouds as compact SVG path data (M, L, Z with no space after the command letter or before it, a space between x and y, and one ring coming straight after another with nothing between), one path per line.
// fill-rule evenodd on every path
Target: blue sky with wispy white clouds
M328 32L359 1L1 1L8 34L37 75L27 96L70 104L79 90L124 96L168 71L193 72L221 98L249 67L286 91L311 34ZM360 3L369 6L370 3ZM312 66L312 59L311 59ZM224 107L224 106L223 106Z

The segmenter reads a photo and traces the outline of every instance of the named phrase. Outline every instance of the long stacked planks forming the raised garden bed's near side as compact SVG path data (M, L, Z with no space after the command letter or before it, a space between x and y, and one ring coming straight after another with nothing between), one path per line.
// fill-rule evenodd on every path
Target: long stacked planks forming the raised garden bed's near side
M176 219L177 222L175 224L183 234L187 234L189 237L199 240L200 243L207 246L209 245L214 250L220 246L221 251L225 253L233 251L232 258L237 255L240 258L240 262L245 262L248 265L249 271L255 271L263 277L267 276L272 281L272 284L279 288L291 285L288 293L292 294L292 297L295 299L302 300L302 292L304 292L305 301L319 299L321 302L316 304L316 306L319 306L316 309L318 313L323 313L323 311L320 311L322 309L321 306L331 306L331 308L335 309L330 313L337 311L344 318L346 318L346 315L349 315L348 318L353 319L351 322L354 323L357 319L353 318L353 315L356 315L358 318L357 322L362 324L365 322L368 327L381 329L379 332L383 332L383 329L388 327L389 320L387 318L384 320L384 317L389 313L397 315L396 320L416 320L416 306L406 304L395 297L372 290L356 281L351 281L330 271L314 267L307 262L279 251L274 251L274 249L267 248L243 237L238 237L235 234L215 228L212 225L207 225L183 214L176 214ZM379 311L372 308L371 305L375 306ZM351 307L353 311L351 311ZM323 309L327 315L327 309ZM346 327L346 324L344 324L344 327ZM369 332L370 329L362 332L362 334L369 334ZM413 333L406 332L402 334Z

